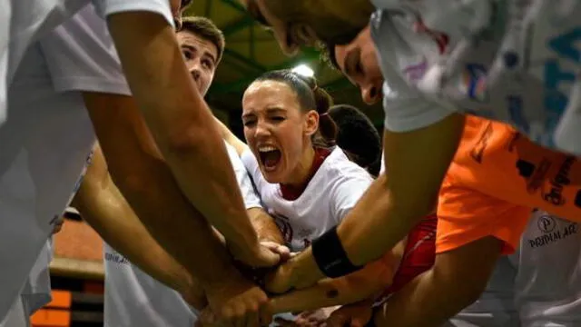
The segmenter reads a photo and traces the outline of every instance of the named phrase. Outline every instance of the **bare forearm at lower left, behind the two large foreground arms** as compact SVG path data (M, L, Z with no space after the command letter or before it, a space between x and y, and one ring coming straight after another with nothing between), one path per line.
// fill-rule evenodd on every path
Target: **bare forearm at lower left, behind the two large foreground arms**
M196 309L202 310L207 305L200 285L196 285L192 275L155 242L113 184L98 145L73 205L104 242L143 272L180 292Z

